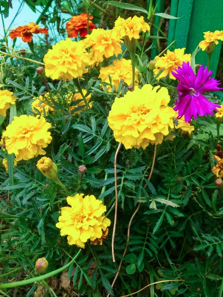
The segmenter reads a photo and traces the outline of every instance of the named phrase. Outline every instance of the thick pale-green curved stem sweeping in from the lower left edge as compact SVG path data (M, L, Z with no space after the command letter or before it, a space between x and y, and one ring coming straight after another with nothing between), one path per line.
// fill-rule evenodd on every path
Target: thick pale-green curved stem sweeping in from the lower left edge
M53 275L55 275L57 273L62 272L66 268L68 268L75 261L76 257L79 255L80 252L81 252L81 248L79 249L77 254L74 256L74 258L69 263L67 263L66 265L64 265L63 267L61 267L59 269L56 269L56 270L54 270L52 272L49 272L49 273L46 273L44 275L40 275L40 276L37 276L37 277L30 278L28 280L0 284L0 289L21 287L21 286L25 286L25 285L32 284L32 283L35 283L35 282L43 281L43 280L45 280L45 279L47 279L47 278L49 278L49 277L51 277L51 276L53 276Z

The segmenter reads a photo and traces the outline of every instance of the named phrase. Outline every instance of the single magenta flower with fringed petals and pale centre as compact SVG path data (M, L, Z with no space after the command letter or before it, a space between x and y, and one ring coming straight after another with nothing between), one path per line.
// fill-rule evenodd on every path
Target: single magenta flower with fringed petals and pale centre
M175 69L176 73L172 71L172 75L179 81L178 99L175 101L174 110L178 110L178 118L184 115L185 122L190 123L192 116L196 120L197 115L202 116L213 114L213 110L221 107L219 104L210 102L202 93L218 91L220 81L210 78L212 71L207 67L200 66L197 76L191 68L189 62L183 62L182 68Z

